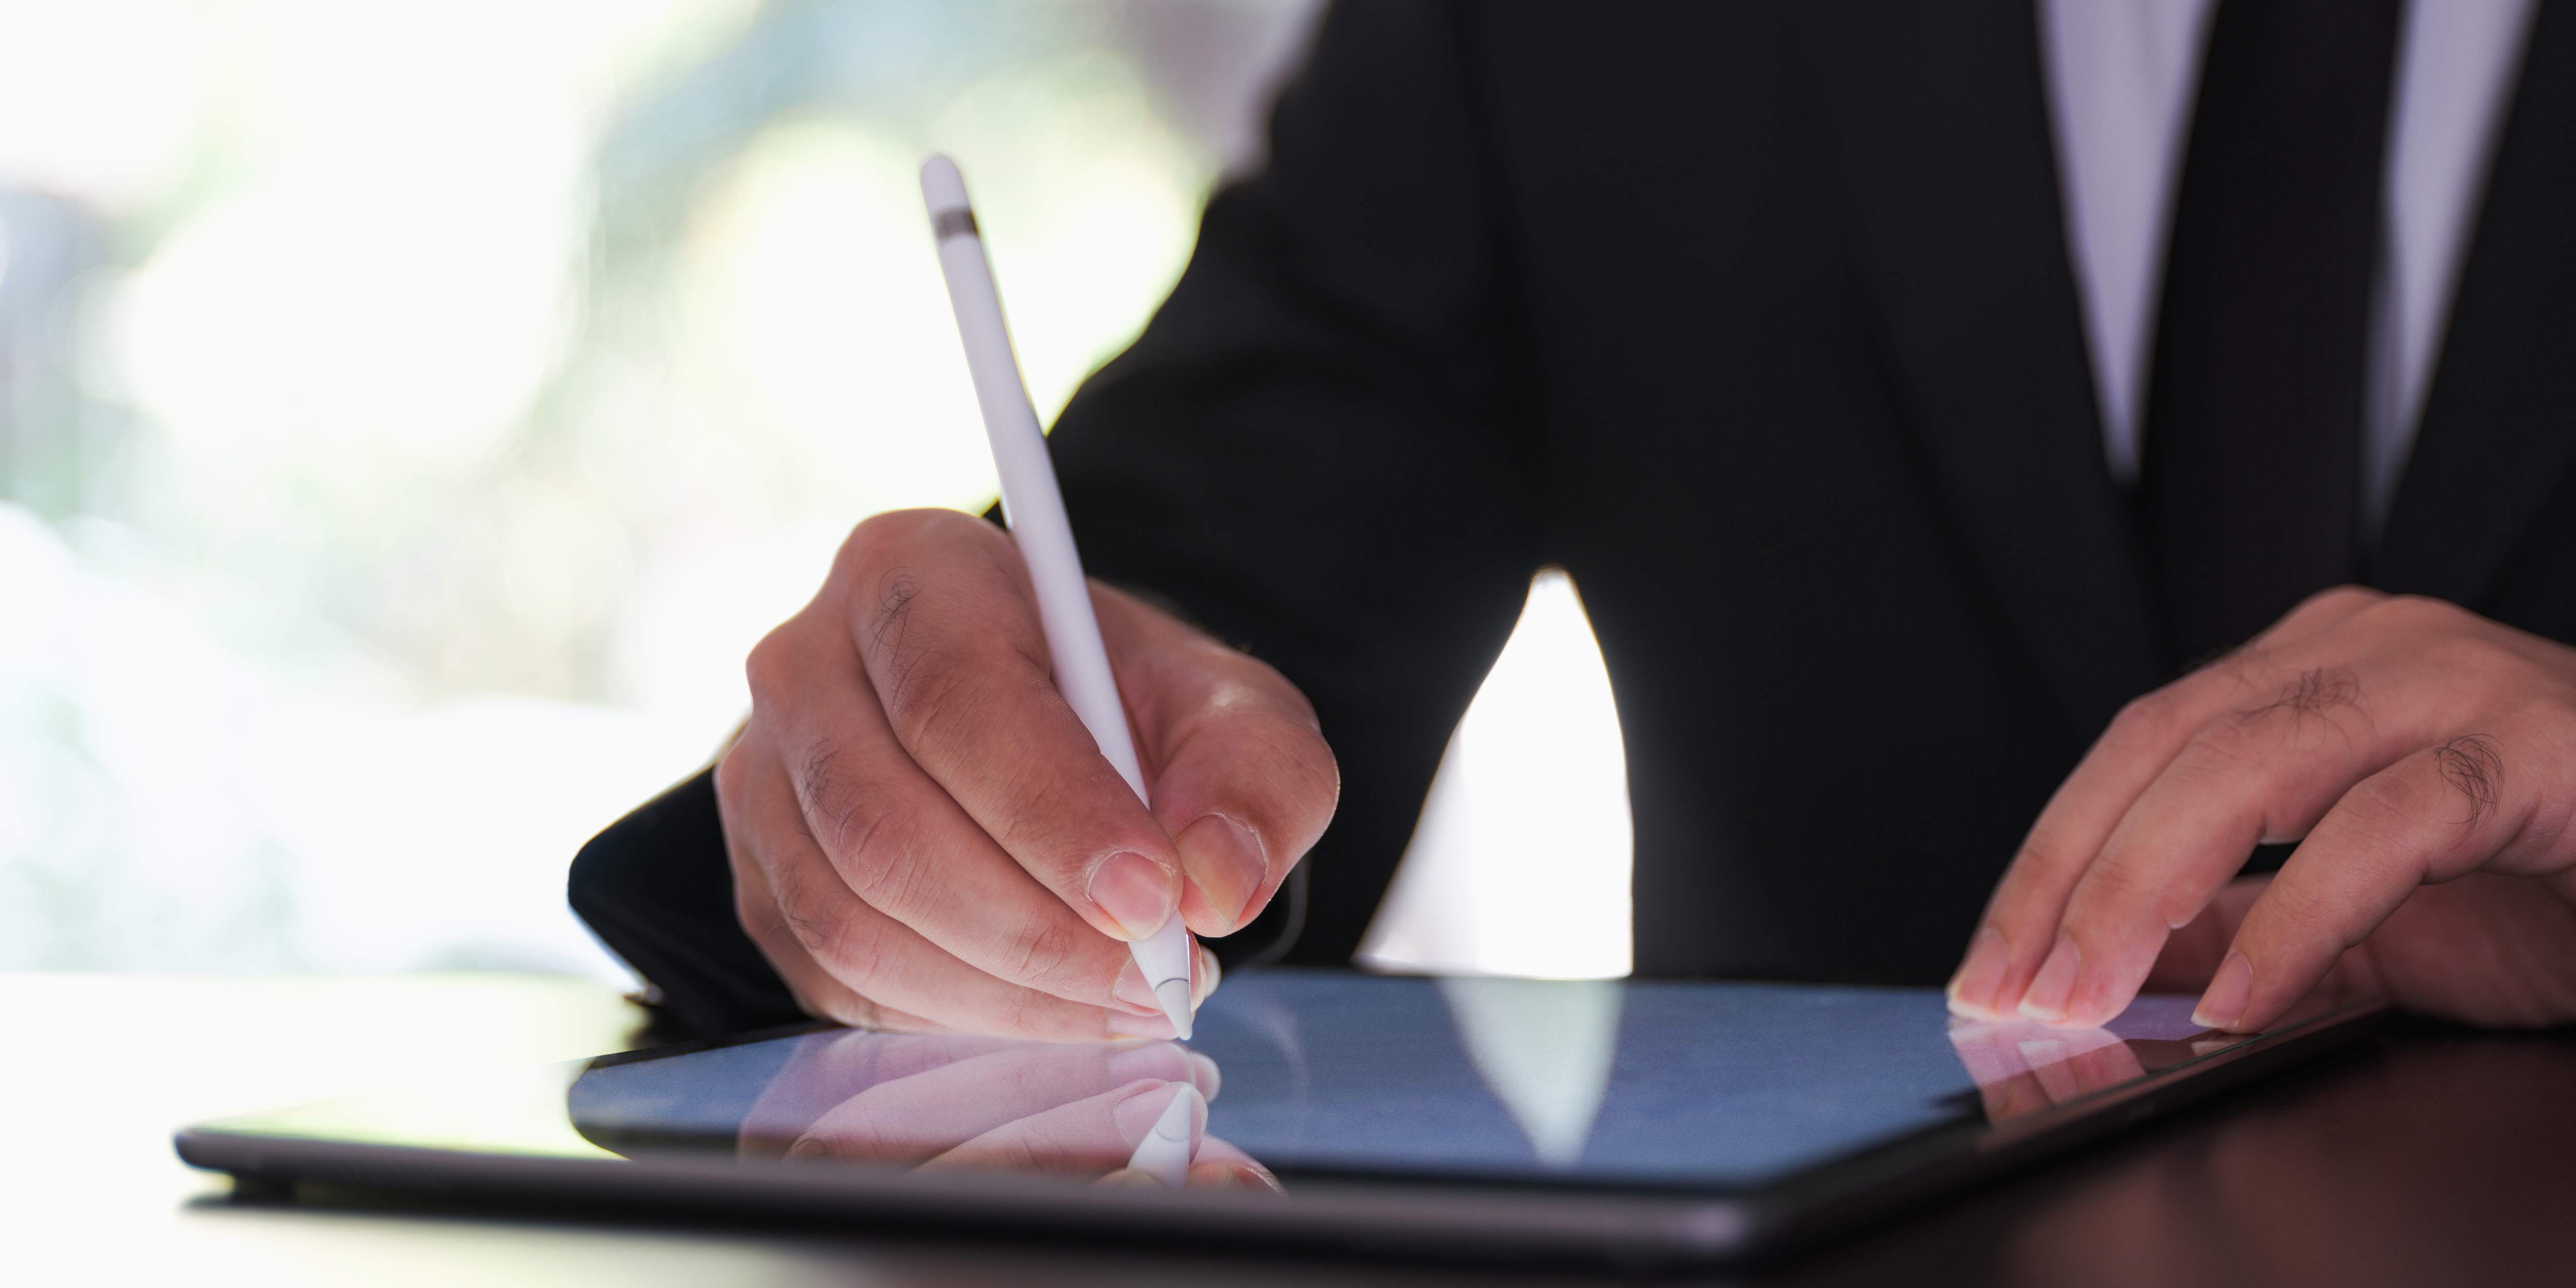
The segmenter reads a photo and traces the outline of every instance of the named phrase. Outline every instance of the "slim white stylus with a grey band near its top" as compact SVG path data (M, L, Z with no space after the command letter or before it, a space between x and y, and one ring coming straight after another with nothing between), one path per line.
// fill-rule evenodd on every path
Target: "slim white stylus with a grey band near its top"
M1046 652L1056 662L1056 690L1074 716L1082 716L1100 755L1151 809L1136 744L1128 739L1126 706L1118 701L1118 680L1110 675L1110 654L1092 618L1074 526L1064 518L1056 466L1046 459L1038 410L1020 384L1020 358L1010 348L1010 327L1002 325L1002 294L992 283L984 237L974 227L974 206L966 204L966 178L953 160L933 155L922 162L922 201L930 206L930 232L940 242L940 276L948 278L948 307L956 309L958 337L966 340L966 371L974 374L974 399L984 410L992 464L1002 474L1002 518L1010 520L1010 538L1020 544L1028 582L1038 592L1038 623L1046 626ZM1136 969L1172 1020L1172 1033L1188 1038L1190 933L1180 925L1180 912L1172 912L1162 930L1131 940L1128 951L1136 953Z

